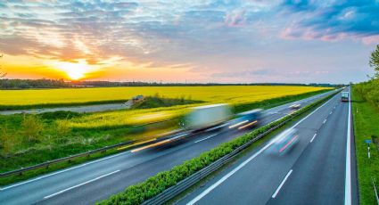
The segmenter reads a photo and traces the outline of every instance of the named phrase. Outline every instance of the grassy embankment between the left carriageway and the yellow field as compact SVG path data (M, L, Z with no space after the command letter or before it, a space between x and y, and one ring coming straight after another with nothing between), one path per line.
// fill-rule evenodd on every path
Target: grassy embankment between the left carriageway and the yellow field
M266 101L236 104L235 111L245 111L258 107L268 108L321 92L324 91L318 90L305 94L282 96ZM191 102L191 100L185 100L185 103L187 102ZM145 135L128 135L131 127L140 123L151 122L152 120L177 118L185 113L187 107L194 106L188 104L171 106L175 103L172 100L163 103L160 100L158 102L147 101L139 104L135 110L129 111L88 114L54 112L39 115L0 116L0 125L2 125L0 127L0 137L3 139L0 150L0 171L28 167L46 160L54 160L105 145L142 138ZM141 109L157 106L170 107ZM126 116L129 118L126 118ZM86 159L79 159L78 161L83 160ZM63 162L63 165L60 164L55 166L56 168L52 167L40 172L37 171L33 175L68 167L78 163L78 161ZM12 177L12 180L1 180L0 184L8 184L26 177Z

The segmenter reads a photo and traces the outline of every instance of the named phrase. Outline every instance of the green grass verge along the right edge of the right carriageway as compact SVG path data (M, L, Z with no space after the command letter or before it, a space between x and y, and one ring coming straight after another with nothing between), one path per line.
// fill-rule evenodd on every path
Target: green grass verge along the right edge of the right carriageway
M359 204L376 204L372 178L376 186L379 185L379 110L373 104L365 101L357 90L352 89L352 113L354 120L354 135L356 143ZM371 159L367 156L367 143L370 144ZM376 144L375 144L376 142Z

